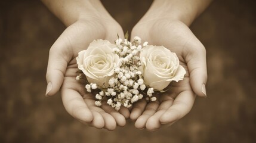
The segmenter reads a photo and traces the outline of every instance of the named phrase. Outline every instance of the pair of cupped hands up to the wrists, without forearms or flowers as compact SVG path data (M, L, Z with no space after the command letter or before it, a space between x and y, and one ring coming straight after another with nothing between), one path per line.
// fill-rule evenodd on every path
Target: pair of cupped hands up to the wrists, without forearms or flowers
M119 111L103 103L95 106L94 96L85 92L75 77L78 71L76 57L94 39L124 38L122 27L112 17L85 15L67 27L50 49L47 67L47 96L56 94L61 88L61 97L67 112L81 122L114 130L125 126L126 119L135 120L135 128L156 130L171 125L191 110L196 95L206 97L206 53L202 43L189 27L179 20L166 18L142 18L132 29L131 39L139 36L149 45L164 45L175 52L187 73L184 80L172 82L170 90L160 95L157 101L136 102L131 109Z

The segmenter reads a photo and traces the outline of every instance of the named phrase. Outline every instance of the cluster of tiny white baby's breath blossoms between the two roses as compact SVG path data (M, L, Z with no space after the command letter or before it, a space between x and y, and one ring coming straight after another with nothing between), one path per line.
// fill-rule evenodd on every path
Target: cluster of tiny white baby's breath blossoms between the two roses
M115 41L116 47L112 50L119 56L121 64L114 69L114 74L108 81L109 87L104 89L103 86L98 86L95 83L85 85L87 92L97 91L95 95L97 100L95 105L97 106L101 106L105 97L107 104L117 111L122 105L127 108L131 107L134 102L143 97L147 101L156 101L156 97L153 97L154 89L144 84L142 73L139 70L141 61L138 55L142 47L147 46L148 43L144 42L141 46L141 39L138 36L134 37L133 42L129 42L127 39L118 38ZM81 78L81 74L76 77L77 80Z

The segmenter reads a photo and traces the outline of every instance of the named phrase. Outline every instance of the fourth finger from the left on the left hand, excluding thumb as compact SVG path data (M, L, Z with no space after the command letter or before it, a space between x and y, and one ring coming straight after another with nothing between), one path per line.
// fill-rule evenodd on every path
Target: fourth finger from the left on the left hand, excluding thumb
M109 113L111 116L113 116L118 126L125 126L125 123L126 123L125 117L121 113L116 111L115 108L112 108L109 104L106 104L106 102L104 102L101 105L101 108L104 111L106 111L106 113Z

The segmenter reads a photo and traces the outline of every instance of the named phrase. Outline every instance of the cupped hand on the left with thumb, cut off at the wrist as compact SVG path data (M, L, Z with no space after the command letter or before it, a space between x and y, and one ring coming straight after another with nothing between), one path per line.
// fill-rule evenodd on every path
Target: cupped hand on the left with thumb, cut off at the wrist
M94 39L114 42L117 34L124 37L121 26L112 17L85 15L67 27L50 49L46 95L54 95L61 88L67 112L81 122L99 129L113 130L117 125L124 126L129 111L121 108L118 112L106 103L101 107L95 106L94 95L85 92L85 86L76 80L78 66L75 58Z

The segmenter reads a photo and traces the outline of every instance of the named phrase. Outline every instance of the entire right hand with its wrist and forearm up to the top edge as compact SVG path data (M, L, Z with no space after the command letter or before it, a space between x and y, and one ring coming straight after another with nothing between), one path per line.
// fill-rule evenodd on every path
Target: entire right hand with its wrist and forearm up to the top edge
M189 25L209 3L155 0L132 29L132 37L139 36L149 45L163 45L175 52L187 72L183 80L172 82L167 92L158 95L157 101L134 104L130 119L135 120L135 128L156 130L172 125L189 113L196 95L206 97L206 50Z

